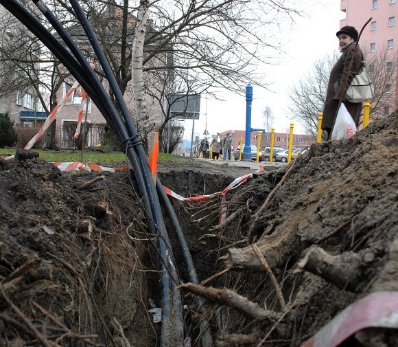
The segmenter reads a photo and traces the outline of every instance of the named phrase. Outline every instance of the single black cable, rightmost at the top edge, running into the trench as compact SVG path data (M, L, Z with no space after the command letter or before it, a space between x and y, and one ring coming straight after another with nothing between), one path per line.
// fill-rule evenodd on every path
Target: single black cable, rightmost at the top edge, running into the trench
M121 95L121 91L119 89L119 85L117 85L116 78L113 74L113 71L110 69L108 64L108 60L102 52L100 47L100 43L98 43L97 38L89 25L86 16L82 8L80 7L77 0L69 0L73 10L75 10L76 16L78 16L78 20L82 24L84 31L86 32L86 36L89 38L93 49L95 50L95 54L97 54L97 58L100 60L102 65L102 69L106 76L108 77L108 81L110 87L113 89L115 93L115 98L119 104L121 112L124 115L124 119L126 121L126 125L130 130L130 135L137 135L137 131L134 127L134 122L132 121L132 117L130 115L130 111L126 106L126 102L124 102L124 98ZM164 225L164 221L161 214L161 206L159 203L159 198L156 195L156 188L154 182L152 180L152 175L150 174L148 159L143 150L143 146L136 146L137 155L141 160L141 168L146 182L146 188L148 191L148 195L150 196L150 208L152 209L152 213L154 214L154 220L157 223L157 227L159 228L159 232L161 234L161 238L159 238L159 247L163 258L161 262L161 267L169 267L169 271L174 273L177 276L176 264L173 261L172 249L168 240L167 231ZM166 260L166 262L164 261ZM174 281L170 280L168 271L163 269L162 271L162 280L163 280L163 305L162 305L162 339L161 344L163 346L168 346L171 343L183 342L183 311L182 304L180 299L180 291ZM170 298L172 299L170 302ZM180 324L178 324L178 322ZM180 325L180 326L178 326ZM171 333L174 331L174 333ZM178 335L181 335L178 337Z

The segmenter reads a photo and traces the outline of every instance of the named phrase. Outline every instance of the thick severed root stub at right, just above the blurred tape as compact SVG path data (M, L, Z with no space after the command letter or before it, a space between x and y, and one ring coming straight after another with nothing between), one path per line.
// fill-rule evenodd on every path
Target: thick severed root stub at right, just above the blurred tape
M355 292L359 286L363 265L361 254L347 252L331 256L324 249L313 246L299 261L298 268L314 273L340 289Z

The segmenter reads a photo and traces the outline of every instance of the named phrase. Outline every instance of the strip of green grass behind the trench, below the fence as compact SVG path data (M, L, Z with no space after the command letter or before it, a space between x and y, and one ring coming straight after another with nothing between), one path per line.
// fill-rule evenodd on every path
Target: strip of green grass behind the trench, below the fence
M82 153L80 150L41 150L34 149L34 152L38 153L40 159L45 161L81 161ZM16 148L0 148L0 157L8 157L10 155L15 155ZM179 155L159 153L159 162L161 161L172 161L172 162L186 162L187 157L180 157ZM84 163L98 164L101 166L119 167L126 166L126 155L121 152L84 152L83 156Z

